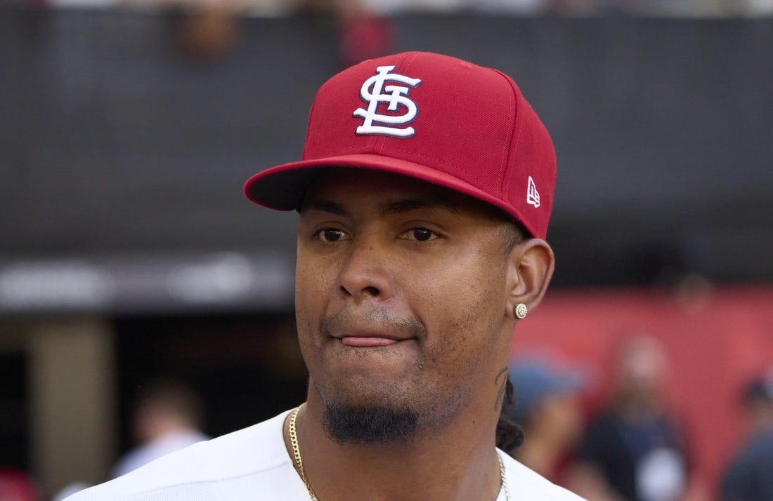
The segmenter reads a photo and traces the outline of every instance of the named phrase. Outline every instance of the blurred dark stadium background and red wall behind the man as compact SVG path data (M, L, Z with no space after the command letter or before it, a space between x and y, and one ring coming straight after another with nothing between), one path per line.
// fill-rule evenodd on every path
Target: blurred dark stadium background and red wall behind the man
M403 50L509 73L556 145L514 362L581 374L579 437L653 340L685 488L637 499L720 499L773 365L771 47L773 0L0 1L0 499L109 478L159 378L209 436L304 399L295 214L242 185L300 156L325 80Z

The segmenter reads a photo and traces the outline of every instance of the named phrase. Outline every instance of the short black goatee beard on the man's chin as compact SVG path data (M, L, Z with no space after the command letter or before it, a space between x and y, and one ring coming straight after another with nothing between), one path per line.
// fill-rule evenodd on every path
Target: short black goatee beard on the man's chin
M322 425L330 438L349 444L391 444L414 436L418 414L387 405L354 407L327 403Z

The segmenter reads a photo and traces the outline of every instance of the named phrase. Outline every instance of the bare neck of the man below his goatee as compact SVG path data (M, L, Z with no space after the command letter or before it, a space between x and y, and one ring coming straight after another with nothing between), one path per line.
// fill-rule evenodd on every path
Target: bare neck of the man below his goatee
M421 436L420 432L417 438L396 444L341 444L329 438L322 427L322 411L315 407L312 402L301 408L297 433L306 479L322 501L493 501L499 493L495 421L478 420L466 427L454 423L448 427L453 433ZM293 457L287 424L284 435Z

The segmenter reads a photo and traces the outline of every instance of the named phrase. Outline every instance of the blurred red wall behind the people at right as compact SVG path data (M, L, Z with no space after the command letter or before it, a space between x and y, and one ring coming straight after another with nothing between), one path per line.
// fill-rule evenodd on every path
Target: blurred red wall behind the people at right
M744 438L738 392L773 364L773 286L707 289L677 296L634 289L548 293L516 327L512 357L551 350L588 372L586 396L601 398L616 340L645 330L669 357L669 398L683 418L696 473L716 493Z

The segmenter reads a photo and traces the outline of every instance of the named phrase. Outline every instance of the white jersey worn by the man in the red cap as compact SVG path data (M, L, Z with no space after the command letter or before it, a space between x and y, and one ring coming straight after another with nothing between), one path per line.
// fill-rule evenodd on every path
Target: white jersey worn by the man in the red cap
M172 452L66 501L308 501L282 437L289 413ZM581 500L498 452L512 499ZM506 501L503 489L496 501Z

